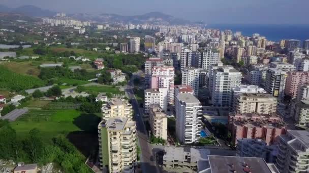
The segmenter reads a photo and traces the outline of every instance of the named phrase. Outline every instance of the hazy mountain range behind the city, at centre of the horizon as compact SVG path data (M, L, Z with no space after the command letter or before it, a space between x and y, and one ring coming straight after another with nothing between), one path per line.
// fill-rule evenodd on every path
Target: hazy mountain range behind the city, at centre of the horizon
M151 12L144 15L120 16L117 14L72 14L70 17L79 20L92 20L97 22L123 22L123 23L149 23L149 24L188 24L190 21L175 18L173 16Z

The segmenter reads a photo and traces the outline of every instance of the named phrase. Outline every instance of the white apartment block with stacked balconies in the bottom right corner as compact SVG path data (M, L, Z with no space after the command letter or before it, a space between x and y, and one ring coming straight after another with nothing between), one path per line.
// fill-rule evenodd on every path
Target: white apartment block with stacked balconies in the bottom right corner
M280 136L276 166L281 173L309 171L309 131L288 131Z

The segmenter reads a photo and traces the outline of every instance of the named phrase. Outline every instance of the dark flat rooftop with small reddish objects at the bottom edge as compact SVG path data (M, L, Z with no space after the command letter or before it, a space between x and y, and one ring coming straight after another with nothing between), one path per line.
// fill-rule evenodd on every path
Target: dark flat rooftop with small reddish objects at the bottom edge
M258 172L272 173L263 158L208 156L211 173L223 172Z

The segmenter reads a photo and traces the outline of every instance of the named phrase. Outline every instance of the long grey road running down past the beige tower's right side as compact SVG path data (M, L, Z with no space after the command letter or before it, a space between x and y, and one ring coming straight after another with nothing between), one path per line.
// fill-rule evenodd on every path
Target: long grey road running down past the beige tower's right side
M139 104L137 103L137 100L135 98L135 95L133 94L133 79L135 77L139 77L141 75L141 72L134 73L131 81L126 86L126 94L128 95L129 99L131 99L131 104L133 107L133 110L135 112L134 119L136 121L136 128L137 128L137 137L138 137L138 143L139 147L141 149L141 167L143 172L147 173L157 173L159 172L159 168L157 167L156 163L154 162L154 156L152 155L152 146L148 142L148 132L146 131L142 114L139 110ZM139 116L137 116L139 115Z

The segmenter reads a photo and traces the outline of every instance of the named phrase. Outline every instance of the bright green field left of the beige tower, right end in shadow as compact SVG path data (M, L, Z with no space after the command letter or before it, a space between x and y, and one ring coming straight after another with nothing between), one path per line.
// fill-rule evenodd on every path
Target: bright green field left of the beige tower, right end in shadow
M36 121L36 116L43 116L42 119L48 118ZM27 118L27 120L22 118ZM28 136L30 129L38 128L41 131L43 140L51 143L51 139L58 134L69 135L73 132L96 133L100 120L101 118L95 114L86 114L77 110L30 110L26 116L20 117L11 125L16 130L19 138L24 139Z

